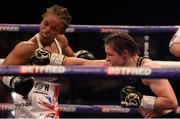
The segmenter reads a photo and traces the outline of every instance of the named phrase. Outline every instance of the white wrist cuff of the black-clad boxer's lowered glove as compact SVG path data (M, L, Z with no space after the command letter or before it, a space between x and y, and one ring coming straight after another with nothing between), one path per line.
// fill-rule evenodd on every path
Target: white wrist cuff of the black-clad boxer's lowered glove
M139 108L143 108L146 111L153 111L155 110L155 105L156 105L156 97L143 95Z

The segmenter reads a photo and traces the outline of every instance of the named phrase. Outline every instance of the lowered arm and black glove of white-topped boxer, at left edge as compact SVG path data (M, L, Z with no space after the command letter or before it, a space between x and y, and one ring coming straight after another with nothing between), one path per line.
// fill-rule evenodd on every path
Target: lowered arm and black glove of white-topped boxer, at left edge
M10 54L5 58L2 65L25 65L30 61L30 56L34 52L34 45L30 42L20 42ZM34 84L33 77L3 76L1 81L13 91L23 96L27 96Z

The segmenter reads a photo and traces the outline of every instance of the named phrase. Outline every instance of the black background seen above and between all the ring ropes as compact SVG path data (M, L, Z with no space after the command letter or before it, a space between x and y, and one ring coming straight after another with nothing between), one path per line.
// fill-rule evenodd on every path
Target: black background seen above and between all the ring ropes
M1 0L0 23L39 24L41 14L47 7L59 4L69 9L72 24L82 25L179 25L178 0ZM149 34L150 58L154 60L179 61L169 53L168 44L174 33ZM12 48L22 40L28 40L34 33L0 32L0 57L5 58ZM130 34L141 45L143 55L144 34ZM104 34L66 33L74 50L89 50L97 59L104 58ZM61 80L60 103L68 104L119 104L118 80L75 79ZM178 100L179 79L170 80ZM2 93L2 92L1 92ZM63 113L62 117L80 116ZM103 117L98 114L84 114L84 117ZM126 117L125 115L104 115L104 117ZM136 117L136 116L134 116Z

